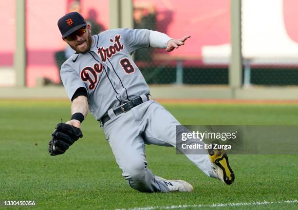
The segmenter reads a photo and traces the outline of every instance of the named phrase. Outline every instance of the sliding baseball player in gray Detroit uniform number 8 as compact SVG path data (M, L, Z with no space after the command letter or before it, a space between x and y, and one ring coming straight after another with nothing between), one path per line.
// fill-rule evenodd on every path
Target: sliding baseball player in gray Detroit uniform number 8
M143 47L170 52L187 38L169 38L145 29L114 29L91 35L90 25L76 12L58 20L62 38L75 54L61 67L61 79L71 105L71 120L58 123L49 142L51 155L63 154L82 137L88 110L100 122L122 175L142 192L193 191L183 180L166 180L148 167L145 144L175 146L180 123L149 98L149 87L130 55ZM186 155L207 176L232 184L234 173L224 151Z

